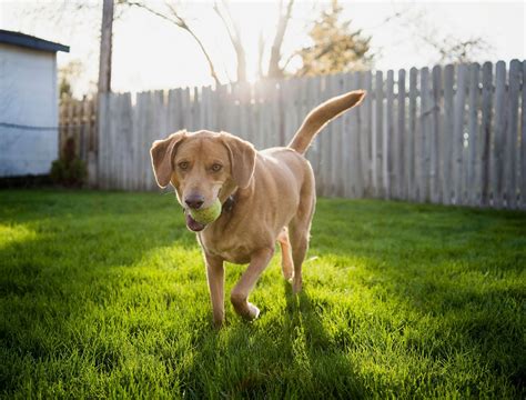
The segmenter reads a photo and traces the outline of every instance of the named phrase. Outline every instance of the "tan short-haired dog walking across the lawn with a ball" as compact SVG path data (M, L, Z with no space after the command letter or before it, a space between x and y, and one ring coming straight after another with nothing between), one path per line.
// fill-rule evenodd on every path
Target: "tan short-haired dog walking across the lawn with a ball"
M247 301L260 274L282 248L282 269L294 292L302 288L302 263L308 247L316 202L314 173L303 157L314 136L333 118L357 106L365 91L327 100L306 117L286 148L263 151L230 133L172 133L151 148L155 179L175 188L186 226L203 249L214 322L224 320L223 262L249 263L231 292L235 311L252 320L260 310ZM204 226L189 208L210 207L219 198L221 216Z

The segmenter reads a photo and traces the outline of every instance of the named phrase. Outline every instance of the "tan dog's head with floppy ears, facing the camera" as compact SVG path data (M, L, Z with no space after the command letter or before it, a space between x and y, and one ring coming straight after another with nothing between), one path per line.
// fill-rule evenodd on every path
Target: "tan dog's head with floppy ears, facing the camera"
M186 226L201 231L190 208L205 209L215 199L224 201L236 188L246 188L254 173L254 147L230 133L179 131L153 142L150 150L155 180L161 188L175 188L186 214Z

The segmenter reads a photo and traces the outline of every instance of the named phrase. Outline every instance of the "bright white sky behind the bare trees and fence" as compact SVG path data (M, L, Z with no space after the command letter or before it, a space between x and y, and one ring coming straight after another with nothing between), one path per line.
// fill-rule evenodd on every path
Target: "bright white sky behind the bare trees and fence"
M422 36L438 41L447 37L467 40L481 37L487 48L474 54L479 62L526 58L524 1L340 1L343 19L371 36L374 69L433 66L439 61L435 49ZM222 82L235 78L235 57L227 33L212 10L211 1L174 1L179 12L202 38ZM265 60L275 32L279 2L231 1L247 57L249 79L256 78L257 42L266 43ZM65 4L65 6L64 6ZM78 10L79 4L81 9ZM149 6L162 8L161 1ZM327 3L296 0L283 53L307 46L308 23ZM100 1L0 0L0 29L22 31L71 47L59 53L59 67L80 62L74 92L93 90L98 76ZM213 83L208 64L188 32L138 8L118 7L113 28L112 88L144 91ZM399 18L391 18L399 13ZM390 19L391 18L391 19ZM386 20L388 21L386 22ZM299 67L295 59L291 67Z

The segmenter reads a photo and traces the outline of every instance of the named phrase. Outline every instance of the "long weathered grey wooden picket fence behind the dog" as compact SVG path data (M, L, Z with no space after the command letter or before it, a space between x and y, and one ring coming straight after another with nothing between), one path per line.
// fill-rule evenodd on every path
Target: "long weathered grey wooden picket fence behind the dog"
M179 129L286 144L313 107L363 88L364 103L307 153L318 194L526 208L525 81L526 62L513 60L105 94L98 183L156 190L150 146Z

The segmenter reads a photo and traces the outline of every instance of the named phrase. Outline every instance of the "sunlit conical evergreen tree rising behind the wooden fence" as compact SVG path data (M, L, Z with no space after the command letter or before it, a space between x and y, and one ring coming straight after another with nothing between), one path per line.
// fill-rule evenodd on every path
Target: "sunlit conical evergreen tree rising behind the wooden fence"
M317 76L370 69L373 62L371 37L353 31L351 21L341 22L343 8L333 0L328 10L313 23L308 36L312 46L299 51L302 67L296 76Z

